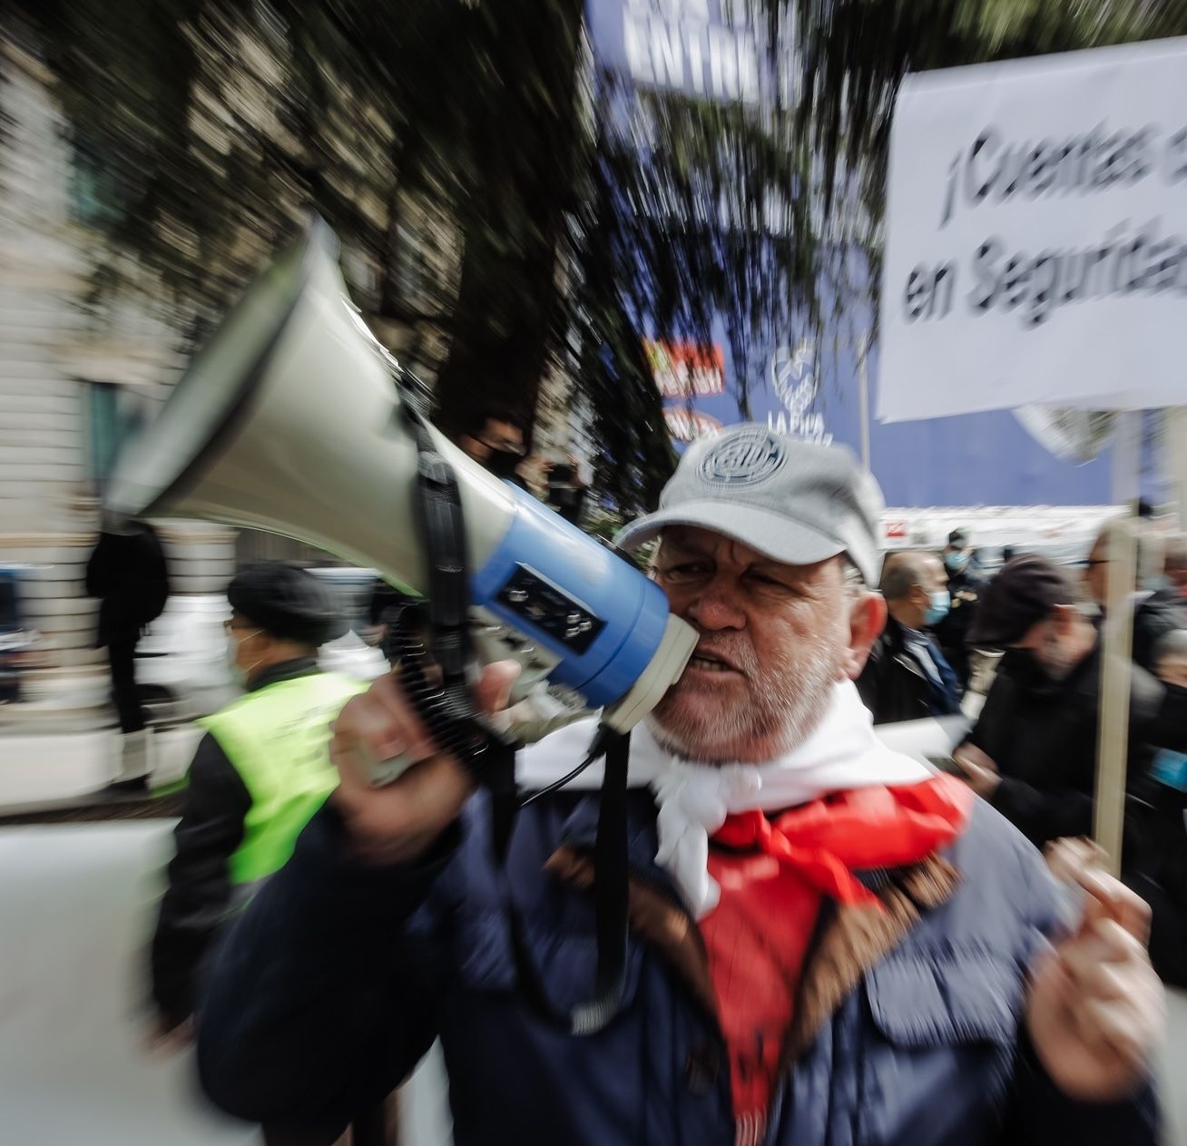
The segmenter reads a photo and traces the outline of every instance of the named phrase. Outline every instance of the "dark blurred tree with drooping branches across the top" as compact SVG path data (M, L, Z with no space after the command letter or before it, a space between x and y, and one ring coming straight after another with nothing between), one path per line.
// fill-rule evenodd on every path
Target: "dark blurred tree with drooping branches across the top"
M626 514L674 459L645 333L721 316L743 409L763 332L855 339L907 70L1187 31L1173 0L735 7L761 106L624 89L582 0L0 0L55 77L96 304L147 270L201 340L311 204L446 427L570 371Z

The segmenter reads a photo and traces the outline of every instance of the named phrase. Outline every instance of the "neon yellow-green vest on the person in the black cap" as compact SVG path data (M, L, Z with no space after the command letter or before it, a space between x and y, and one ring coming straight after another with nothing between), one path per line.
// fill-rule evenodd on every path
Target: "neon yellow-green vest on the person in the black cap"
M266 685L198 721L218 741L252 797L230 878L250 884L281 868L297 836L338 782L330 721L367 685L318 673Z

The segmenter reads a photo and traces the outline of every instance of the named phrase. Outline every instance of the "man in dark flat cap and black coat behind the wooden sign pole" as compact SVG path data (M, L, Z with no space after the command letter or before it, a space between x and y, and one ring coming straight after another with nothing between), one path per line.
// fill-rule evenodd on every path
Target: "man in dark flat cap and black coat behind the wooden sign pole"
M1077 600L1058 566L1016 558L986 590L969 634L972 644L1005 655L976 727L953 758L973 790L1039 846L1092 832L1102 647ZM1166 689L1134 666L1131 796L1145 784L1154 746L1187 740L1182 700L1181 690ZM1131 833L1138 814L1131 800Z

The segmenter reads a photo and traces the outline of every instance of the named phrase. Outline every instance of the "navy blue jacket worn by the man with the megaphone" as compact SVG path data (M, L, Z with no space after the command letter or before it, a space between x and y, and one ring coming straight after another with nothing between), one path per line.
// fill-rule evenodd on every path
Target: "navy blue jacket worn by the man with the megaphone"
M654 862L647 792L631 792L629 814L636 887L675 910ZM596 815L594 794L539 801L512 843L528 944L559 1006L592 991L592 899L544 866L560 843L591 843ZM489 855L482 797L412 866L366 866L351 858L332 806L315 816L214 960L198 1064L215 1102L272 1127L332 1135L439 1036L458 1146L732 1144L722 1037L671 957L633 936L617 1019L584 1038L544 1024L513 991ZM827 1010L776 1088L766 1141L1153 1144L1150 1088L1131 1102L1074 1103L1021 1033L1027 967L1055 928L1055 890L1037 852L978 803L946 858L947 898L904 881L896 910L914 913L914 925L852 987L820 995ZM865 878L876 890L896 873ZM861 924L857 948L876 950L881 925Z

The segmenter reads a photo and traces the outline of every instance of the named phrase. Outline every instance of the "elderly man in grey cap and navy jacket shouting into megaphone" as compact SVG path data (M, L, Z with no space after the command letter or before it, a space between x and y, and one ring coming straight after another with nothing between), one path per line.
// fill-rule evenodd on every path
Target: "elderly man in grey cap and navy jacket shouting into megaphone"
M700 643L631 734L631 934L617 1014L597 949L597 777L520 813L509 927L488 801L394 679L337 722L337 792L214 968L199 1065L216 1102L332 1135L440 1037L472 1144L1153 1144L1162 1023L1141 900L1037 852L951 777L884 749L852 680L886 620L880 496L843 450L741 426L692 446L654 575ZM513 676L491 666L488 711ZM520 753L580 762L580 721ZM360 762L420 763L382 789ZM520 960L521 962L521 960Z

